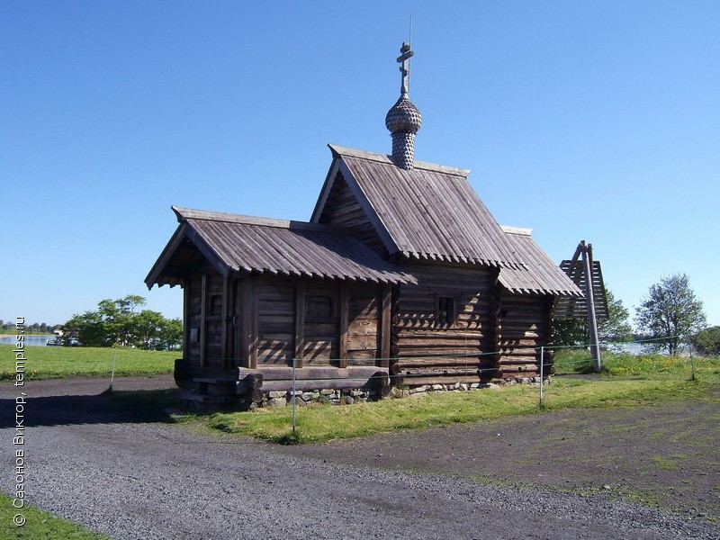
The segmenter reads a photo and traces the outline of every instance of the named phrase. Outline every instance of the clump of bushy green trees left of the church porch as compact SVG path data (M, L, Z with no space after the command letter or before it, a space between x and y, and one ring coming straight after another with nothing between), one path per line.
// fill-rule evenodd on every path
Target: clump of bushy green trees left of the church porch
M76 338L81 347L183 347L183 321L166 319L158 311L139 310L145 299L128 294L119 300L98 302L97 310L73 315L62 325L63 338Z

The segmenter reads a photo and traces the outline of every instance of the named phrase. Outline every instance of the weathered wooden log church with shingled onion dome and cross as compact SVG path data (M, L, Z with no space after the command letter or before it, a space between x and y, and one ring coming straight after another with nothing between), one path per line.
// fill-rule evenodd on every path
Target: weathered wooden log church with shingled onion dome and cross
M498 224L470 171L415 160L410 56L403 44L392 155L330 145L309 222L173 207L146 284L183 287L188 401L289 392L293 364L298 391L536 380L554 304L581 290L529 229Z

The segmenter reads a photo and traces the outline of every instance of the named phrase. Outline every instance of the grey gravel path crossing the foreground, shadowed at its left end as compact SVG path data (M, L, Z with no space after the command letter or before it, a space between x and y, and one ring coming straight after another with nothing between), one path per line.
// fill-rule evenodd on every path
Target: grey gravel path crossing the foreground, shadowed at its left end
M720 538L707 520L603 494L332 463L140 421L138 411L92 394L32 392L28 501L113 538ZM12 387L0 392L0 488L7 492L14 483L12 395Z

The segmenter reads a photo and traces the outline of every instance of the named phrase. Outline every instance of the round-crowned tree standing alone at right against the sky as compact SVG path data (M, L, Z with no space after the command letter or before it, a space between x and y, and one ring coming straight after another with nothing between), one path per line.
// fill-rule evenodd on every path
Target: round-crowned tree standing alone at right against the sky
M695 297L685 274L663 277L650 287L636 309L635 323L657 348L676 355L680 344L706 325L703 302Z

